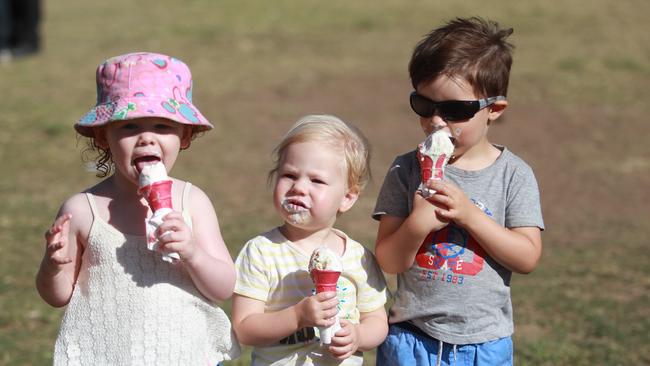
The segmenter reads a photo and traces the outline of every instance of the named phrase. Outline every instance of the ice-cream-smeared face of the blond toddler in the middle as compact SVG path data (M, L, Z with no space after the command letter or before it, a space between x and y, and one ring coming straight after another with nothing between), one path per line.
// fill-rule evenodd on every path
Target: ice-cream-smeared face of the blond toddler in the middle
M278 165L273 203L286 225L303 230L332 227L358 197L347 187L341 153L322 142L289 145ZM285 225L285 226L286 226Z

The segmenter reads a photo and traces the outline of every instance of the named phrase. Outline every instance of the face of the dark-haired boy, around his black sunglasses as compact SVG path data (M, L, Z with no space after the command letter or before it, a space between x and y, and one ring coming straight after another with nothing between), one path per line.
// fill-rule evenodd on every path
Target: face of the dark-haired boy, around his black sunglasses
M421 84L417 93L436 102L451 100L477 100L486 96L476 95L472 86L461 78L449 78L445 75L427 84ZM430 118L420 118L420 125L425 135L438 130L447 130L454 138L454 155L459 157L473 149L489 145L487 132L489 121L497 119L508 102L497 101L493 105L476 112L473 117L461 121L445 121L439 113Z

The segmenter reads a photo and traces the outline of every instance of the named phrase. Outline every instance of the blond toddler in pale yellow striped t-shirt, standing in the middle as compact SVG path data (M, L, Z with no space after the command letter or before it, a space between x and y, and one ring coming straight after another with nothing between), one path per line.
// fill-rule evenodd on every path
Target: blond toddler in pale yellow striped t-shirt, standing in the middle
M284 224L261 234L237 258L233 327L254 346L254 365L361 365L360 351L388 331L386 285L370 251L332 226L369 177L369 150L359 131L333 116L298 121L275 149L273 202ZM340 256L337 291L314 295L312 251ZM338 298L338 301L337 301ZM341 319L327 347L317 329Z

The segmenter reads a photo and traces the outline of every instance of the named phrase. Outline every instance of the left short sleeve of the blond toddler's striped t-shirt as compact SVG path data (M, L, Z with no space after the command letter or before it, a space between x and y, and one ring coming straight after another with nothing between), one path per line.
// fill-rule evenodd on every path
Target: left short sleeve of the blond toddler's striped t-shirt
M269 276L258 240L246 243L237 256L235 293L266 302L270 290Z

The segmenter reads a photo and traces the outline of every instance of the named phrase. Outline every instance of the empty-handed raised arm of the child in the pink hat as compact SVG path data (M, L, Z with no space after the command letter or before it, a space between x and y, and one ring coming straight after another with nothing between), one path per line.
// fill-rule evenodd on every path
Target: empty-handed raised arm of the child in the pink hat
M87 235L82 235L79 227L90 216L80 210L82 199L82 195L76 195L66 201L45 232L45 254L36 274L36 289L45 302L55 307L70 302L81 267L83 246L78 238Z

